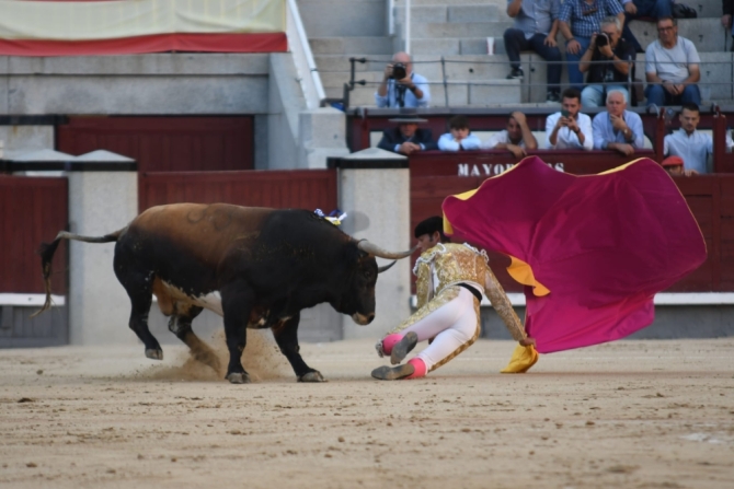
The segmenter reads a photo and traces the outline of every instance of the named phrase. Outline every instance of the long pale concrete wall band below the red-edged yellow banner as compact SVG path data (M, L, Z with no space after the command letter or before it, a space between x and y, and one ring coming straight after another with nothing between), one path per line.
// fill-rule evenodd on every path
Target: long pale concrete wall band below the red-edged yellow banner
M269 55L0 57L4 114L266 114Z

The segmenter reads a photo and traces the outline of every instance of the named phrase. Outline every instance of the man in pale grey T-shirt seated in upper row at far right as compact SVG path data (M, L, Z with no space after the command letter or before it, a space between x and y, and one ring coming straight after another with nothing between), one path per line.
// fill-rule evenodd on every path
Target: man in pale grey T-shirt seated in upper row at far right
M678 36L678 22L673 18L657 20L657 37L645 51L647 105L699 105L696 82L701 79L701 60L696 46Z

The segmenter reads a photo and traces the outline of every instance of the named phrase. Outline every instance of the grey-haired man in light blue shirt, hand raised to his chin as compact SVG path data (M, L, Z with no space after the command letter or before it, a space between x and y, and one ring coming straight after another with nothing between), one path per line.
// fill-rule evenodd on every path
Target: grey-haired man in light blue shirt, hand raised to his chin
M592 127L595 150L615 150L631 156L635 149L643 148L645 133L642 119L627 109L624 96L621 91L610 91L607 94L607 109L594 117Z

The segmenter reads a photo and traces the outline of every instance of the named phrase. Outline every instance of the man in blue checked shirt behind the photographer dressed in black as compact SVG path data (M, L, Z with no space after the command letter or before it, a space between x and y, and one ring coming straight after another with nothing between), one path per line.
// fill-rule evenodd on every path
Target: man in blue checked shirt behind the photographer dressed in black
M618 0L565 0L561 5L559 28L565 37L565 60L569 63L569 83L583 89L584 75L578 60L589 44L592 35L599 32L601 19L616 15L624 23L624 12Z

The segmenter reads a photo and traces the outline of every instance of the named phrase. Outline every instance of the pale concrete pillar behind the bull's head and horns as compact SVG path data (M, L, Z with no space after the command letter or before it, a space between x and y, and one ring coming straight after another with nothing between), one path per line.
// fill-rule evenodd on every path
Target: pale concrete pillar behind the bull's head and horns
M344 221L344 232L356 238L366 238L390 251L411 246L409 170L340 170L340 209L351 212ZM378 265L387 264L378 258ZM376 289L376 317L368 326L359 326L344 317L345 338L375 338L410 314L410 261L399 260L381 273Z

